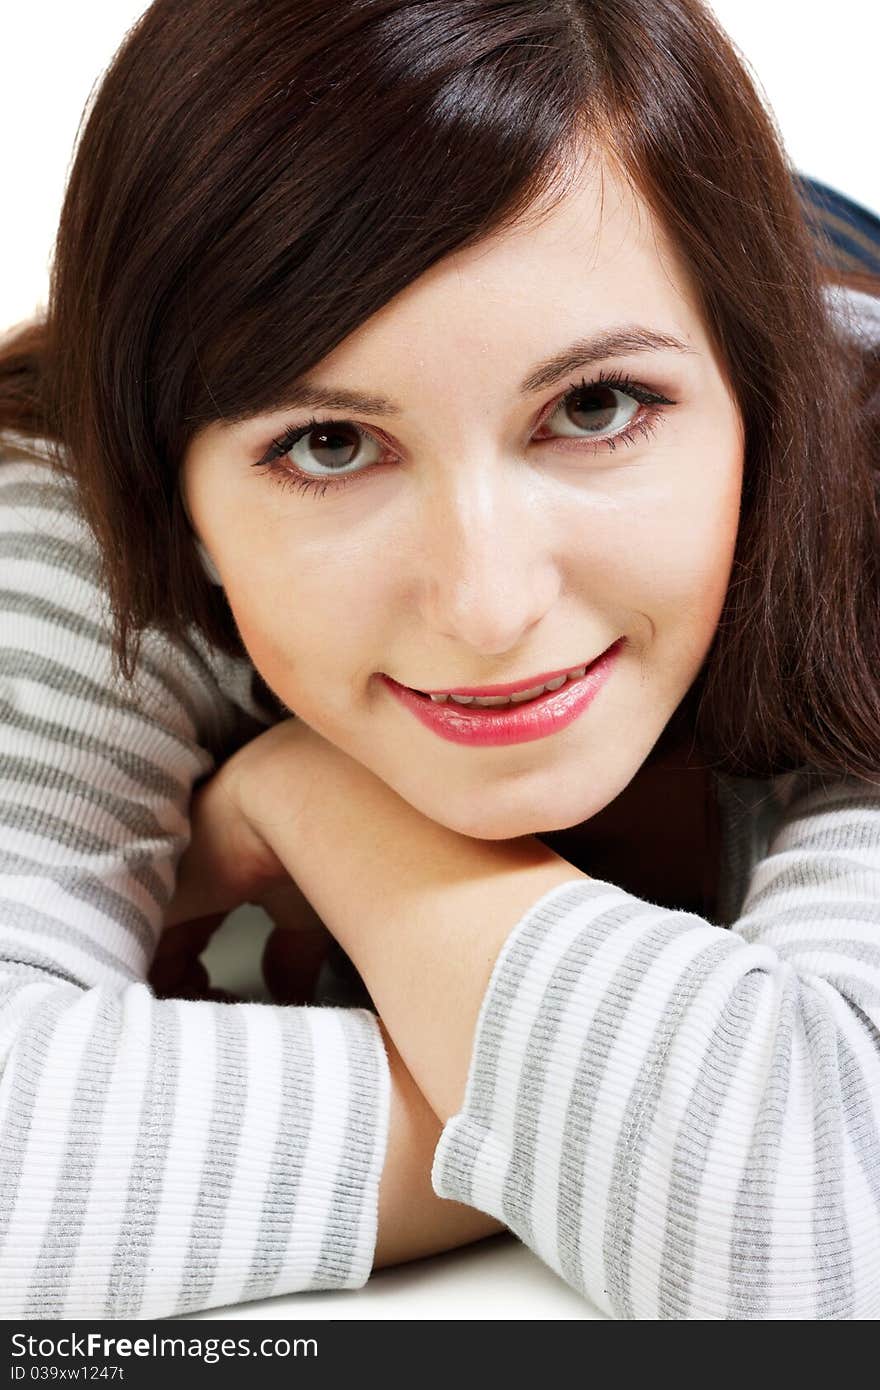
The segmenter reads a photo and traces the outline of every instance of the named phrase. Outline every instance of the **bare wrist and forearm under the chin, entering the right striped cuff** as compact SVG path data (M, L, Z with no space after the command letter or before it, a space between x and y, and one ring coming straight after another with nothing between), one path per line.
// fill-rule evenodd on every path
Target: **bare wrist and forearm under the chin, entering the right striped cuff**
M313 767L303 759L316 758ZM460 1109L498 952L552 887L585 878L539 840L482 841L416 812L367 769L307 744L289 759L296 802L261 833L360 972L441 1123ZM285 770L271 769L274 806ZM364 833L364 827L370 833Z

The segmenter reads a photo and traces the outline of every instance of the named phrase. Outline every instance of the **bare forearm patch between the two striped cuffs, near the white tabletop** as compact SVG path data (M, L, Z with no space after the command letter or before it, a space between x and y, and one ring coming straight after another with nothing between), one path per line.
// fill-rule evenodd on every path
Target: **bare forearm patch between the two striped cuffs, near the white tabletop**
M434 1193L431 1162L442 1126L385 1027L382 1034L391 1066L391 1116L374 1269L435 1255L505 1230L492 1216Z

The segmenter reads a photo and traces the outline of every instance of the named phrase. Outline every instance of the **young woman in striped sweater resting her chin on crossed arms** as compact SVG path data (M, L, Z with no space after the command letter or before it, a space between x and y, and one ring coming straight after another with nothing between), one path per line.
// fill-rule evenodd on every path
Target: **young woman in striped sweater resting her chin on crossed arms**
M808 192L696 0L132 29L0 361L6 1315L502 1227L880 1312L877 285ZM291 881L373 1008L157 997Z

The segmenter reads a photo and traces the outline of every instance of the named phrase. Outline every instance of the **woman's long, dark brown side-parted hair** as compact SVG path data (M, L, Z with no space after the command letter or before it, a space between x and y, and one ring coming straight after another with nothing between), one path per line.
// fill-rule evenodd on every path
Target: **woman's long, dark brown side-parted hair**
M877 774L877 354L834 324L773 121L698 0L156 0L129 31L46 320L0 354L0 428L75 478L127 678L147 626L246 655L182 510L193 434L272 409L584 147L673 238L745 424L724 610L665 739L734 774Z

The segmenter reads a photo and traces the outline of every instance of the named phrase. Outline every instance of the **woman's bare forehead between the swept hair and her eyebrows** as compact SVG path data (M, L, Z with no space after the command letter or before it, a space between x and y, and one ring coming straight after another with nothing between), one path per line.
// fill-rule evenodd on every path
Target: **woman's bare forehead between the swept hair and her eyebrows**
M531 348L566 329L599 332L624 322L694 336L698 299L681 259L644 199L613 167L587 165L537 215L442 257L323 359L310 377L357 373L399 353L470 356L507 334ZM425 360L425 364L427 364ZM525 360L525 359L524 359ZM519 378L517 378L519 379Z

